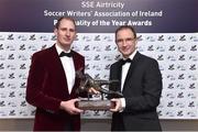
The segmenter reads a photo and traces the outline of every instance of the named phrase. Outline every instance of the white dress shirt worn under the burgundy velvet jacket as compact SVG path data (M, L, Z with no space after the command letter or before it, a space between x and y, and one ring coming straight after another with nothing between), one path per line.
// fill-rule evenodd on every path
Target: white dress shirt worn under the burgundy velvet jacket
M65 53L70 52L70 51L66 52L66 51L62 50L57 44L55 45L55 47L57 50L58 55L62 52L65 52ZM73 57L67 57L67 56L61 57L61 61L62 61L62 65L63 65L63 68L64 68L65 75L66 75L68 92L70 94L73 90L73 87L75 84L75 77L76 77L74 61L73 61Z

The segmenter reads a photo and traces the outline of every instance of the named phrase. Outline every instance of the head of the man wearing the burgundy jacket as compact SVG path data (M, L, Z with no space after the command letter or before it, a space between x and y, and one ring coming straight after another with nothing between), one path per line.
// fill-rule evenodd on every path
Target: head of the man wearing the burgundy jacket
M57 36L57 44L64 50L69 50L76 37L76 29L73 21L63 19L58 29L54 30L54 33Z

